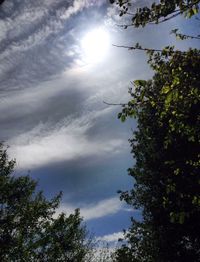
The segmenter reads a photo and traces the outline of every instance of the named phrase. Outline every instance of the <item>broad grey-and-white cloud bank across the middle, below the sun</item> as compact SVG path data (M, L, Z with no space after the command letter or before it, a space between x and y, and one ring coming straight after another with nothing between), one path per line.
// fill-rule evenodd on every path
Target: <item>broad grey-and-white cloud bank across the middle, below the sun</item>
M17 159L18 169L127 149L125 132L113 126L116 107L103 104L104 99L117 102L119 96L126 101L125 82L115 84L111 78L104 83L103 71L96 77L67 72L55 81L12 91L1 99L1 137L10 146L10 156Z

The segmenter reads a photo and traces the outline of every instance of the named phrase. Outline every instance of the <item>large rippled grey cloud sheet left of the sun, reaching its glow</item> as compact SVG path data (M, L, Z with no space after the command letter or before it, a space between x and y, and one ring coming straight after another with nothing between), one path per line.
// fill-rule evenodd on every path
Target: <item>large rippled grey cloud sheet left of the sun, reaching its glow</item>
M70 67L78 55L67 55L76 45L70 33L79 23L74 18L93 5L97 1L6 1L0 20L1 90L27 88Z

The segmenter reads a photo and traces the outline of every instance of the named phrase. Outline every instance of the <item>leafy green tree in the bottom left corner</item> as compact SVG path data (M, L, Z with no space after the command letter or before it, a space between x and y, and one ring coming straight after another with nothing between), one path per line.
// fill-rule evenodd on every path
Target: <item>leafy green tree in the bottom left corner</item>
M52 200L29 176L13 175L15 161L0 145L0 261L81 262L91 247L79 210L56 217Z

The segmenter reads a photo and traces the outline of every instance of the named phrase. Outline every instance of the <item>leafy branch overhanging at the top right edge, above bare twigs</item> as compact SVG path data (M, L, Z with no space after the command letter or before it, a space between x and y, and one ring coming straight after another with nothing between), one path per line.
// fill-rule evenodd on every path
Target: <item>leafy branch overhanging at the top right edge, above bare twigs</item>
M131 15L131 25L135 27L144 27L148 23L161 23L184 14L185 17L192 17L199 11L199 0L160 0L153 2L151 6L137 8L135 13L130 13L129 9L134 7L135 1L129 0L110 0L116 3L120 8L120 16L124 14ZM132 3L133 2L133 3Z

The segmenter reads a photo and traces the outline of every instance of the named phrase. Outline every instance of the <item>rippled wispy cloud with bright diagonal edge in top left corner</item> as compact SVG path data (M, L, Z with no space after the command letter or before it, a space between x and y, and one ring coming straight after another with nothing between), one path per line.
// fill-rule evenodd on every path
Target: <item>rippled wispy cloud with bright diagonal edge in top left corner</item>
M13 14L6 14L11 4ZM40 44L52 33L58 33L64 28L66 20L71 16L94 4L94 1L30 1L23 0L20 5L15 5L11 0L9 4L3 5L5 22L1 21L2 29L1 57L2 51L10 54L15 51L26 51ZM6 37L5 37L6 36ZM6 45L6 43L8 45ZM6 55L5 54L5 55Z

